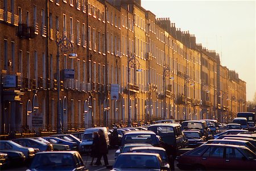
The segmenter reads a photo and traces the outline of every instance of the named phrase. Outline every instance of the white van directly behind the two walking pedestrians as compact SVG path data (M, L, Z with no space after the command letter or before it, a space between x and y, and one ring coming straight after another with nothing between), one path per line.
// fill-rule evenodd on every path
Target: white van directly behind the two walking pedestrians
M79 144L79 151L80 152L90 152L92 149L93 143L93 132L98 132L98 130L102 130L104 132L104 136L106 139L106 143L109 145L109 136L108 130L106 127L90 127L84 131L84 136L82 137L82 142Z

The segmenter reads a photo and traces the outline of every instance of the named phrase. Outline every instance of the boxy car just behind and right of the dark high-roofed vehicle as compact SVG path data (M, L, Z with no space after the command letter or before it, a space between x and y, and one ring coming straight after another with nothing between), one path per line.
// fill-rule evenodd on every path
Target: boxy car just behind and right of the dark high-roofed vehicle
M210 130L208 130L207 123L205 121L184 121L181 123L181 129L182 130L191 130L196 129L200 130L202 135L205 136L205 138L208 140L210 139Z

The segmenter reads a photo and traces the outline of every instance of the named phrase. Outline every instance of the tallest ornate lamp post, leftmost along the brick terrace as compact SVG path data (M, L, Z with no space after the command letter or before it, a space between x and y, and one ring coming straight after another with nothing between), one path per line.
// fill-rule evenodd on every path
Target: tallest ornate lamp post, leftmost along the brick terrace
M63 36L62 39L56 41L57 45L57 134L63 132L61 124L61 112L60 112L60 52L68 52L72 49L72 53L68 55L69 58L76 58L77 54L73 53L73 44L68 40L67 36Z

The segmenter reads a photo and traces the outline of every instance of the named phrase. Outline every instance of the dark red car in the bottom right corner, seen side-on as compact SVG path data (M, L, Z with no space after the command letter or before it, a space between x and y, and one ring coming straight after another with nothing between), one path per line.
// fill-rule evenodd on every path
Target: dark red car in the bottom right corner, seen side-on
M256 155L245 146L204 144L177 157L181 170L256 170Z

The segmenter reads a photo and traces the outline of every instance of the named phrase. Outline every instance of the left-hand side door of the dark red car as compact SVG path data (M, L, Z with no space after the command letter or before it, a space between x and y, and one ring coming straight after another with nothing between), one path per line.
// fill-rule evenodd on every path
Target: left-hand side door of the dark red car
M224 163L224 147L209 147L201 156L199 163L207 170L221 169Z

